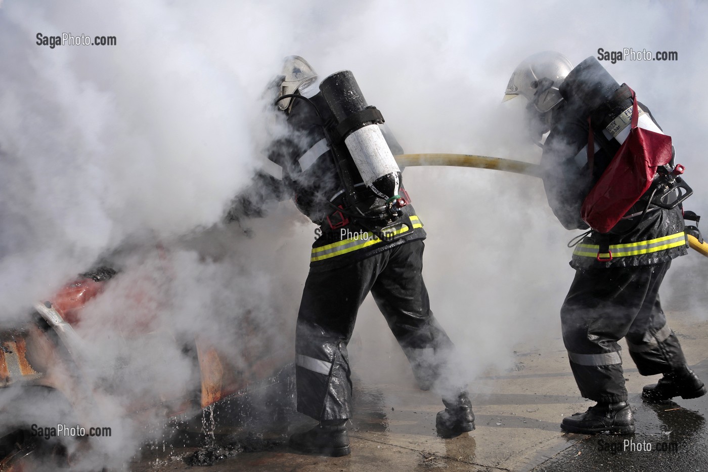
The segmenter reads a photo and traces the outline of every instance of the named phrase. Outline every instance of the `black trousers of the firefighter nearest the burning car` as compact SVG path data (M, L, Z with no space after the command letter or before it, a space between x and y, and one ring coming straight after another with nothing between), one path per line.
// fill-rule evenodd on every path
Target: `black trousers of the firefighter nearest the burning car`
M440 387L452 342L430 312L423 241L415 240L328 271L310 271L295 339L297 410L316 420L352 416L347 344L371 291L411 362L419 386ZM453 389L455 390L455 389ZM459 393L452 391L450 398Z

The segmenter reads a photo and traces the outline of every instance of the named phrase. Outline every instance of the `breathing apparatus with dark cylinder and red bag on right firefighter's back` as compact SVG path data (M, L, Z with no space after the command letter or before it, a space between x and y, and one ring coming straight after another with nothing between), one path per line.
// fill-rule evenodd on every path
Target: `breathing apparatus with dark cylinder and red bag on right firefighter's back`
M691 196L681 177L685 167L673 162L671 138L637 105L634 91L620 86L594 57L573 68L560 90L587 117L590 172L595 141L605 150L619 145L583 201L581 215L593 230L627 234L647 213L673 209ZM610 145L612 140L617 144Z

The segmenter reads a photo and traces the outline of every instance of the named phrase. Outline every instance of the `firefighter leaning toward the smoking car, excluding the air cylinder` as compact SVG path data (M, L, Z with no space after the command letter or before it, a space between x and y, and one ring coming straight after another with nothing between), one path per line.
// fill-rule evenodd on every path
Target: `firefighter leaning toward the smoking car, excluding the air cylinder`
M341 128L333 129L336 120L319 84L302 57L286 58L272 89L278 89L273 101L287 114L288 134L268 150L272 171L258 173L227 213L227 220L261 216L266 201L290 197L319 226L295 341L297 410L319 420L319 425L293 434L290 446L329 456L350 453L346 421L352 416L352 381L347 344L369 292L419 386L442 395L445 410L438 414L439 432L471 431L469 397L451 365L454 347L430 311L421 276L423 223L407 204L402 184L400 195L388 199L392 201L362 184L344 137L337 137ZM364 108L360 116L372 116L372 107ZM401 154L394 137L382 128L386 151Z

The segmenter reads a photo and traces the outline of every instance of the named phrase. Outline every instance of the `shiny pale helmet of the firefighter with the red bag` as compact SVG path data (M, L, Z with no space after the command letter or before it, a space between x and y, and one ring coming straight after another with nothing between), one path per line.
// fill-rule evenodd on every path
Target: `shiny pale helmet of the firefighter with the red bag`
M563 99L558 88L571 70L573 64L559 52L530 55L511 74L503 101L522 95L539 113L547 113Z

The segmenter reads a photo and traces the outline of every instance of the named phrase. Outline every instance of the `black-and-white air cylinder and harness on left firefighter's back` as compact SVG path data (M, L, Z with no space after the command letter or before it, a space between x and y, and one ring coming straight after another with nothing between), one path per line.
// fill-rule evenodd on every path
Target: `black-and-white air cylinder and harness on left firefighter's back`
M326 217L327 223L334 230L353 221L381 240L397 239L401 233L396 234L394 228L401 223L400 210L409 203L409 198L401 189L401 170L379 128L379 124L384 123L381 112L367 104L348 70L326 77L319 89L331 111L332 118L327 121L313 101L297 92L283 94L275 103L287 98L306 101L321 121L344 186L343 204L336 206L327 201L333 209ZM384 203L375 207L365 204L362 185L354 184L357 176L361 176L363 187Z

